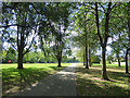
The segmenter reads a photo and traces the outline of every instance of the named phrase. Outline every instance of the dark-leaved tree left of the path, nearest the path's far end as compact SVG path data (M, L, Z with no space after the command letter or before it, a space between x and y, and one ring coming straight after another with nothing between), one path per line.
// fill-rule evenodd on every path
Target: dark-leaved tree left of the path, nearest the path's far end
M51 47L52 56L55 56L58 61L57 66L61 66L62 53L66 41L65 32L68 26L69 3L48 2L31 3L31 5L40 14L41 19L38 34L40 48L44 52L44 56L48 56L49 47ZM44 7L46 11L42 7Z

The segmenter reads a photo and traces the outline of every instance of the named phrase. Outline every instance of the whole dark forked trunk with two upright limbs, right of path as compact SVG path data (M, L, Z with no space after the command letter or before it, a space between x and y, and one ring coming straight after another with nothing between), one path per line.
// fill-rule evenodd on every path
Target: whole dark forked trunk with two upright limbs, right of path
M98 28L98 36L100 38L100 44L102 47L102 60L103 60L103 70L102 70L102 76L104 79L108 79L107 73L106 73L106 60L105 60L105 53L106 53L106 45L108 39L108 22L109 22L109 13L112 11L112 2L108 3L107 12L105 12L105 33L104 33L104 39L102 38L100 34L100 21L99 21L99 11L98 11L98 2L95 2L95 20L96 20L96 28Z

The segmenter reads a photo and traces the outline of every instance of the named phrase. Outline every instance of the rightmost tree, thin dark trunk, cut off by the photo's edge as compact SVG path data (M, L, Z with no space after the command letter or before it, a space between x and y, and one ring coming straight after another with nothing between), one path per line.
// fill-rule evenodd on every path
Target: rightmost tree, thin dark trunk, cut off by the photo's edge
M120 11L121 10L121 11ZM128 52L130 50L130 2L128 3L120 3L117 8L117 10L115 11L116 14L114 17L117 17L120 20L119 25L120 28L118 27L118 29L120 30L121 38L123 38L123 40L121 39L121 46L123 46L123 48L126 48L126 73L129 73L128 71ZM126 14L126 15L125 15ZM127 36L126 36L127 35Z

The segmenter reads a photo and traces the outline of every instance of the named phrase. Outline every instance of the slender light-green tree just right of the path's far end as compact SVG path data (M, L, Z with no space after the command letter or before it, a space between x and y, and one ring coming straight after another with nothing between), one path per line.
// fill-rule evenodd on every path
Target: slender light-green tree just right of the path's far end
M95 36L95 24L93 24L93 12L94 10L91 10L88 8L89 3L80 3L80 5L77 8L77 11L74 12L75 16L73 17L74 28L76 32L78 32L76 40L76 45L79 45L81 48L84 47L82 50L82 57L86 58L83 61L86 61L86 69L89 69L91 66L91 51L93 47L98 47L98 38Z

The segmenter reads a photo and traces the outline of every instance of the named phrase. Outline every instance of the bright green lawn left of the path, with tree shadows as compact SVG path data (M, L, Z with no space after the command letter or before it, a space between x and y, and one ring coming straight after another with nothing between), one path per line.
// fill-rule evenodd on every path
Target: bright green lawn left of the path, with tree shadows
M62 68L57 68L57 63L30 63L24 64L23 70L17 70L17 64L2 64L2 95L17 93L68 65L70 63L62 63Z

